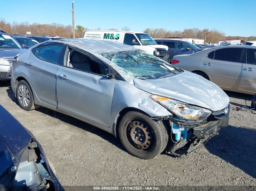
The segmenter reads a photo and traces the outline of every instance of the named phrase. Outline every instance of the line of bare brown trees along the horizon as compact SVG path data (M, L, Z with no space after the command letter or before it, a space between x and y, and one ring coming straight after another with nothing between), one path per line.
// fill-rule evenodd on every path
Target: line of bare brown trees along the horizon
M27 36L26 32L31 32L32 36L60 36L64 38L72 38L72 25L64 24L39 24L28 22L17 23L13 21L12 23L7 22L5 19L0 19L0 30L5 31L9 34L21 34ZM77 25L75 29L75 37L81 38L84 36L86 30L101 30L101 28L88 29L81 25ZM115 28L109 28L106 30L118 30ZM129 27L124 26L121 30L130 30ZM234 37L225 36L225 33L217 29L203 29L198 28L184 29L184 30L166 30L164 28L146 28L143 32L148 33L152 38L162 38L162 37L186 37L186 38L197 38L204 39L205 42L218 43L219 40L231 40L231 39L243 39L245 41L256 40L256 36L251 37Z

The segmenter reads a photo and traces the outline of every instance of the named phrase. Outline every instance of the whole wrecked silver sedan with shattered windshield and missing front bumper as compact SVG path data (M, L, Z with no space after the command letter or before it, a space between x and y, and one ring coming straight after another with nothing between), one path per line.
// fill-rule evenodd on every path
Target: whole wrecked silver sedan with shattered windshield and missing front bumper
M11 72L24 110L73 116L143 159L188 154L228 125L229 97L216 84L125 44L49 40L18 56Z

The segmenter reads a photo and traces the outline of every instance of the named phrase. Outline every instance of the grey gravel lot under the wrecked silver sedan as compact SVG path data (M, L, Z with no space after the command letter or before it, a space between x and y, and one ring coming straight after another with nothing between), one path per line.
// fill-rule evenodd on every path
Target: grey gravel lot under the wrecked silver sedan
M23 110L10 86L0 82L0 104L34 134L64 186L256 185L256 115L249 111L231 110L229 126L189 156L142 160L113 135L78 119L43 107ZM226 93L231 107L251 97Z

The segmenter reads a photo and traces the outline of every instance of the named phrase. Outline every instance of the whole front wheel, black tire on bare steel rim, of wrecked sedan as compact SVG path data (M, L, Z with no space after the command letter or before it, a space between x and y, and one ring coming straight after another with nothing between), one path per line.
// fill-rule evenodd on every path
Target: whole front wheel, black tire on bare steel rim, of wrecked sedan
M129 111L122 117L119 137L128 153L142 159L154 158L164 151L168 142L163 122L138 111Z

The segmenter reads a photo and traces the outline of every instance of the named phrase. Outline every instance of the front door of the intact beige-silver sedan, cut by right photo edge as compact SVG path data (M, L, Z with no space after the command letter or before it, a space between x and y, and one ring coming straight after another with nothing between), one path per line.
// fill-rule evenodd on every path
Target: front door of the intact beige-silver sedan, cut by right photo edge
M256 49L245 48L239 89L256 92Z

